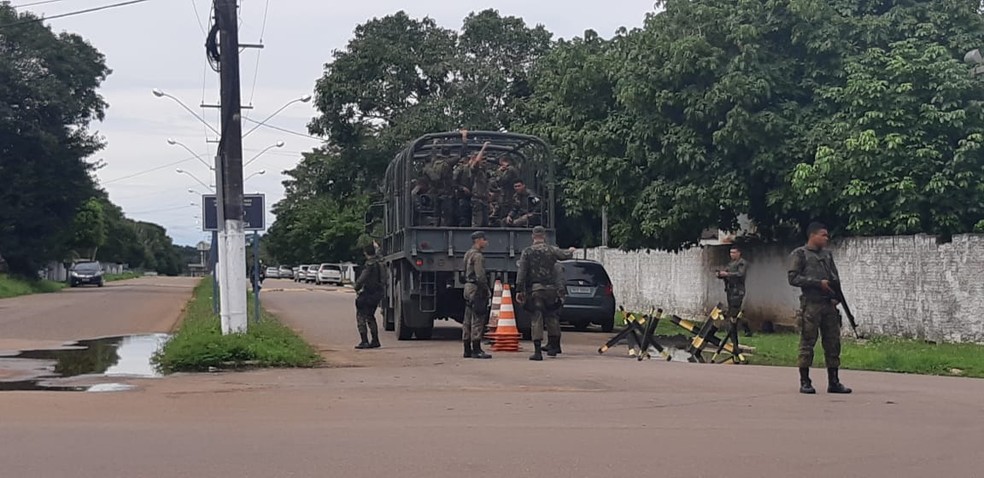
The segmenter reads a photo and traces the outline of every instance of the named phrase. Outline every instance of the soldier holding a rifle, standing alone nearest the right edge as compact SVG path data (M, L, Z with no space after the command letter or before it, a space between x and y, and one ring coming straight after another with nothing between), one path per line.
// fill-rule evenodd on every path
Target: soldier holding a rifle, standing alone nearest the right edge
M796 248L789 255L789 285L802 291L797 318L800 328L800 393L817 393L810 381L810 367L813 365L813 349L818 333L827 365L827 393L851 393L851 389L841 384L837 376L840 368L841 316L830 283L839 281L840 277L834 265L834 256L826 250L830 234L826 226L814 222L807 228L807 235L806 245Z

